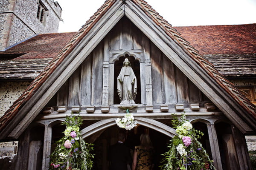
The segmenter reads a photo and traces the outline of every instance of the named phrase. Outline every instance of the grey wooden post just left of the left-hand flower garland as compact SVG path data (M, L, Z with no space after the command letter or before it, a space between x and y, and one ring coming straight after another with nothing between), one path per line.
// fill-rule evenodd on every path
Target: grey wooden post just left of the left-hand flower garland
M45 125L42 170L48 170L52 145L52 126Z

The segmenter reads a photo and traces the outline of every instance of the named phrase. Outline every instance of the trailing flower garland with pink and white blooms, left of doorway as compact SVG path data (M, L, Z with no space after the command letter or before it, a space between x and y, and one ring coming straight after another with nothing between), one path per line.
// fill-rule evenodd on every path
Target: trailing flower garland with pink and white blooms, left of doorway
M50 155L50 170L91 170L93 167L92 144L81 138L81 117L66 116L62 125L66 125L64 137L57 141L54 152Z

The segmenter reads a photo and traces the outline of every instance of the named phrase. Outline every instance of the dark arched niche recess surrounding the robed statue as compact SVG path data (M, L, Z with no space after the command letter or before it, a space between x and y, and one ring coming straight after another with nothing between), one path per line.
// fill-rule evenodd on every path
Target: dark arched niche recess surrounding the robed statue
M118 61L115 62L114 68L114 104L120 104L120 99L117 94L117 76L119 75L123 62L125 58L128 58L131 62L131 68L134 71L134 74L137 79L137 95L136 99L134 100L135 103L141 103L141 95L140 95L140 62L136 60L133 56L129 56L128 54L125 57L120 57Z

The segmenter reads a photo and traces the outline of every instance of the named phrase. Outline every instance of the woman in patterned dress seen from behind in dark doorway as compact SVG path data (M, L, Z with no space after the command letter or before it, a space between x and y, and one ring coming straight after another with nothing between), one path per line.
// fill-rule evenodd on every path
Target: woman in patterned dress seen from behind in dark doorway
M154 149L146 133L140 136L140 146L136 146L132 163L132 170L153 170Z

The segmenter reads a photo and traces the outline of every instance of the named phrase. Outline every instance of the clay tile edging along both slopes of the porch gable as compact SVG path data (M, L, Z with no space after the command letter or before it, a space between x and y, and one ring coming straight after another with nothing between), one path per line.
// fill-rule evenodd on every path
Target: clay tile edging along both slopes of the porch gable
M217 72L213 65L208 62L204 57L198 53L197 50L183 37L180 33L176 31L175 28L163 19L151 6L149 6L143 0L131 0L137 6L139 6L145 14L148 15L163 31L169 35L172 40L177 42L181 48L196 62L201 68L206 71L212 79L214 79L218 85L220 85L224 90L230 94L251 116L256 118L255 110L256 107L252 105L243 94L241 94L229 81L227 81L221 74ZM11 119L17 114L20 108L33 96L35 91L45 82L45 80L52 74L53 71L61 64L65 57L76 47L80 40L87 34L88 31L97 23L99 18L101 18L105 12L115 3L116 0L107 0L102 5L98 11L93 14L93 16L85 23L84 26L79 30L78 33L62 48L62 50L56 55L56 57L49 62L49 65L44 69L44 71L29 85L23 95L16 100L16 102L11 106L11 108L6 111L5 115L0 118L0 130L3 130L6 125L11 121Z

